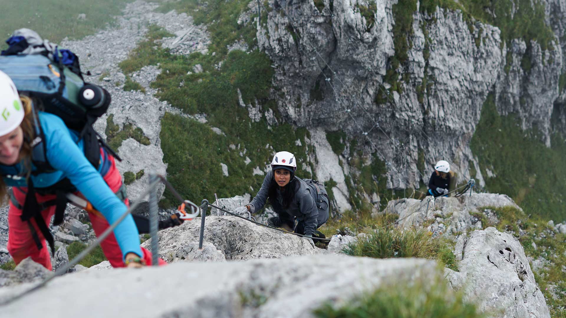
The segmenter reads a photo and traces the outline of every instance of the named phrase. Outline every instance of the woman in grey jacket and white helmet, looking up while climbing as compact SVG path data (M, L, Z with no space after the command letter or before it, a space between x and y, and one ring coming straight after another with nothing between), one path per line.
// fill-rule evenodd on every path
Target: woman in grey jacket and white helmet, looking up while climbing
M324 186L311 179L295 177L297 162L290 152L276 153L271 168L254 200L235 212L253 213L269 201L278 216L270 217L267 223L305 235L314 246L312 234L328 221L329 216L328 195Z

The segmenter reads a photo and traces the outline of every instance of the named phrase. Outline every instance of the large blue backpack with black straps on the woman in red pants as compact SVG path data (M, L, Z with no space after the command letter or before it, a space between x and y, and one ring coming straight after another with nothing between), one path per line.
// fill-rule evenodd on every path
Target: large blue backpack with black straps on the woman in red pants
M100 145L121 160L92 127L96 119L108 110L110 94L98 85L85 83L79 58L69 50L42 40L30 29L16 30L6 42L10 47L0 55L0 70L10 76L18 92L33 98L37 110L57 115L68 128L78 131L79 140L83 140L85 157L95 168L99 164ZM32 163L36 170L32 174L52 172L54 169L47 160L45 136L37 116L34 126ZM23 209L22 220L29 222L32 217L36 219L53 252L53 237L40 212L48 205L57 205L53 224L61 224L67 203L66 194L74 191L76 189L68 179L46 189L35 188L32 180L28 180L25 203L20 207ZM40 205L36 200L36 192L56 194L57 199ZM32 226L30 228L33 229ZM41 248L37 234L33 233L33 236Z

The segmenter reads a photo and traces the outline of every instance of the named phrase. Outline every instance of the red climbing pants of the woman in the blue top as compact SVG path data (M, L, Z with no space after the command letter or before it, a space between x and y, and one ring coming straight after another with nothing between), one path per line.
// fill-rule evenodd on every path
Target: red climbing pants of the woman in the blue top
M112 156L108 156L108 158L112 162L112 166L103 176L104 181L106 181L106 184L108 184L112 191L117 192L122 186L122 177L118 169L116 168L114 158ZM20 206L23 207L27 188L14 187L12 188L12 191L14 191L16 201L18 201ZM37 202L41 204L45 201L55 199L56 196L36 194L36 197ZM130 204L128 199L126 199L124 203L128 206ZM53 214L55 214L54 205L41 211L41 216L45 220L45 224L49 225ZM44 265L44 267L49 270L52 270L51 256L49 253L50 250L46 246L45 238L40 229L37 227L35 219L31 219L31 224L33 227L35 227L35 232L37 233L40 242L42 243L42 248L37 248L35 240L33 240L32 237L31 229L29 229L29 224L27 221L22 221L22 219L20 218L21 215L22 210L18 209L10 201L10 210L8 211L8 252L10 252L10 255L14 258L16 264L31 256L33 261ZM92 229L95 230L97 237L109 227L108 221L106 221L106 218L102 216L100 212L89 212L88 217L91 219ZM106 256L106 259L108 259L110 261L110 264L112 264L112 267L125 267L122 258L122 251L118 246L118 242L114 237L114 233L110 233L110 235L108 235L108 237L106 237L106 239L102 241L100 246L102 247L102 251ZM141 248L141 252L143 253L145 264L151 265L151 252L145 250L145 248ZM165 261L159 259L159 264L164 265Z

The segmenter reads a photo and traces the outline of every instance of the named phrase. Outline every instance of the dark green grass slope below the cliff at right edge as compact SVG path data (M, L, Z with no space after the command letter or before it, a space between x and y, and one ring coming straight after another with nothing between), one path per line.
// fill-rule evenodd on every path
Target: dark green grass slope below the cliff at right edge
M507 194L533 214L563 220L566 142L552 135L551 144L547 148L542 143L537 128L523 131L514 115L500 116L489 94L470 148L478 156L488 192ZM487 177L486 167L496 177Z

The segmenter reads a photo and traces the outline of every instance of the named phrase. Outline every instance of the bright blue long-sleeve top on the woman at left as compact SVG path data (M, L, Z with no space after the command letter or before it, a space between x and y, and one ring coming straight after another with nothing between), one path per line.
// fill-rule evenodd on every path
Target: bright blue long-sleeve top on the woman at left
M126 212L126 205L110 190L108 184L102 178L100 169L95 167L84 156L83 141L78 140L78 133L69 130L63 120L56 115L39 112L41 127L45 135L46 157L49 164L57 171L53 173L41 173L31 175L33 186L36 188L47 188L53 184L68 178L69 181L91 202L93 207L99 210L109 224L112 224ZM104 160L104 158L101 158ZM1 175L19 175L23 166L0 165ZM36 167L32 167L35 171ZM5 183L12 187L27 187L25 178L14 180L4 178ZM138 228L135 226L131 215L127 216L115 229L114 236L122 251L122 256L129 252L136 253L142 257L139 246Z

